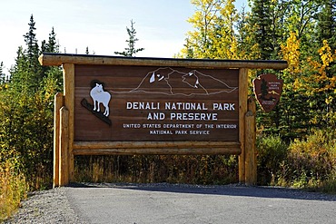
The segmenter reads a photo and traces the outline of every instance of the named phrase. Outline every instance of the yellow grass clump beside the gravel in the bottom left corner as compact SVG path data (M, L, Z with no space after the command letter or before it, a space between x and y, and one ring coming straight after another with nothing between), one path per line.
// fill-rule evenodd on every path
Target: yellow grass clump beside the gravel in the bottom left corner
M16 173L15 166L6 161L0 164L0 222L11 217L27 197L28 184L25 176Z

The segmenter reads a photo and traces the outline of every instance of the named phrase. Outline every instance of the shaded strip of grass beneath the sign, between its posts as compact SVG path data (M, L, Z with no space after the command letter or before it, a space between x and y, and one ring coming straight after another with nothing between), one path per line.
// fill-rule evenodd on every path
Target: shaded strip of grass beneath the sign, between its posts
M238 181L237 156L76 156L77 182L229 184Z

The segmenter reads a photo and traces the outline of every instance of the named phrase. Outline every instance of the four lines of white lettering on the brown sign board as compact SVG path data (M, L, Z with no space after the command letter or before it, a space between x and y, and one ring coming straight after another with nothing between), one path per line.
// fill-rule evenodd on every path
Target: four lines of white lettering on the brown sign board
M125 109L141 112L147 122L156 121L123 123L124 129L145 129L149 135L200 136L238 128L237 123L218 123L225 119L221 112L235 111L234 102L125 102ZM170 123L176 121L188 123Z

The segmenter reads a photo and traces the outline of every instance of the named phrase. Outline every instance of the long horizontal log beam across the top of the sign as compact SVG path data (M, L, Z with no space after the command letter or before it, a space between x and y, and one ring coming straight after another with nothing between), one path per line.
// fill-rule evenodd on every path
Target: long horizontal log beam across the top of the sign
M92 54L54 54L44 53L38 58L41 65L60 66L64 63L91 65L139 65L139 66L176 66L199 68L250 68L285 69L286 61L269 60L220 60L220 59L180 59L156 57L124 57Z

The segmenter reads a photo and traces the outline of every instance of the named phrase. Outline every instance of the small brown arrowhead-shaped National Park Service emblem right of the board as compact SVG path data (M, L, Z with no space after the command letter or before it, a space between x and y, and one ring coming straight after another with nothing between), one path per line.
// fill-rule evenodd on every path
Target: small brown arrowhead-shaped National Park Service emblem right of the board
M265 73L253 80L254 94L265 112L272 112L282 95L283 81L275 74Z

